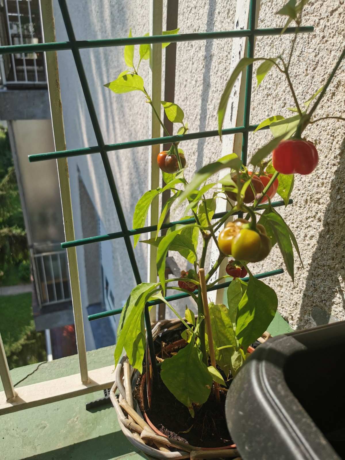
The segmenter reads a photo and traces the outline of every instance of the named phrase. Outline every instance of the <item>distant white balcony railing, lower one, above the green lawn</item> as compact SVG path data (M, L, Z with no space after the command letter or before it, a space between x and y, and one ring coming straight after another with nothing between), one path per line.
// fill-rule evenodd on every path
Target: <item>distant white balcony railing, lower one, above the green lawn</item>
M34 255L40 306L71 299L66 251Z

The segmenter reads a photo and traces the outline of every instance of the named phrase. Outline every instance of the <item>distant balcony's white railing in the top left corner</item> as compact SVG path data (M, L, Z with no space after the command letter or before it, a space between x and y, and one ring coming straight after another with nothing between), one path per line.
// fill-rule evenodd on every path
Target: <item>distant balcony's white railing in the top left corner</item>
M40 20L40 1L35 0L35 11L32 11L33 0L4 0L4 23L8 45L24 45L39 43L42 37ZM6 39L5 39L6 40ZM5 43L3 43L5 44ZM46 85L44 56L36 53L16 53L0 56L1 86L14 88L18 86Z

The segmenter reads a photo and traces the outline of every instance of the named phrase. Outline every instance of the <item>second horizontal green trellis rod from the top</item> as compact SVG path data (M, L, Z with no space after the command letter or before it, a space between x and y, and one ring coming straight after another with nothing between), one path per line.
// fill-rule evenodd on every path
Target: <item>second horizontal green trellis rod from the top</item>
M254 131L259 125L251 125L248 127L249 131ZM270 129L269 126L265 126L262 129ZM226 128L222 129L222 134L236 134L238 132L245 132L246 128L244 126L239 126L235 128ZM165 136L162 138L152 138L152 139L143 139L139 141L130 141L130 142L120 142L118 144L106 144L104 145L104 150L106 152L123 150L123 149L132 149L136 147L146 147L148 145L164 144L170 142L182 142L192 139L201 139L201 138L212 138L218 136L218 131L201 131L201 132L190 132L188 134L176 134L174 136ZM49 153L39 153L34 155L29 155L29 161L31 163L35 161L44 161L52 160L57 158L66 158L70 156L79 156L79 155L89 155L92 153L99 153L100 148L98 146L94 147L83 147L81 149L72 149L72 150L60 150L57 152Z

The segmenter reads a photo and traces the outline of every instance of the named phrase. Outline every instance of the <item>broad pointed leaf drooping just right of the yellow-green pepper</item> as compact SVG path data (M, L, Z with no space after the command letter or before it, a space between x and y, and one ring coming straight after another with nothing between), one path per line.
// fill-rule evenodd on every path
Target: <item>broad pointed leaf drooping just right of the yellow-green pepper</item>
M278 213L264 213L262 214L261 219L264 221L266 220L270 225L272 233L275 236L282 253L288 273L293 280L293 249L287 225Z

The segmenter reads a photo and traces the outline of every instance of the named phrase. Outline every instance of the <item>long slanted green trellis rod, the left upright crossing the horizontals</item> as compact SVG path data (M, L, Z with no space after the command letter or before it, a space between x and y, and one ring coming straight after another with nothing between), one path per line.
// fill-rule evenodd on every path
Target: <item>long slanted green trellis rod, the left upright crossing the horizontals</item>
M121 230L123 232L123 238L124 238L124 241L125 241L125 244L126 244L127 253L128 253L129 259L131 261L134 278L135 278L136 283L140 284L141 283L141 276L140 276L140 273L139 273L139 268L138 268L138 265L137 265L137 261L136 261L135 256L134 256L134 251L133 251L133 247L132 247L132 241L131 241L131 239L130 239L130 237L128 235L128 228L127 228L127 224L126 224L126 219L125 219L125 215L123 213L123 209L122 209L122 206L121 206L120 197L119 197L119 195L117 193L115 179L114 179L113 173L111 171L108 154L104 150L103 135L102 135L99 123L98 123L96 109L95 109L95 107L93 105L90 88L89 88L89 85L87 83L84 66L83 66L82 61L81 61L81 55L80 55L78 47L76 46L75 34L74 34L73 27L72 27L71 19L69 17L69 11L68 11L68 8L67 8L67 5L66 5L66 0L58 0L58 1L59 1L59 6L60 6L60 9L61 9L62 16L63 16L63 22L64 22L65 27L66 27L66 32L67 32L69 41L71 43L71 49L72 49L73 57L74 57L74 60L75 60L75 65L77 67L78 75L79 75L79 78L80 78L80 81L81 81L81 87L83 89L87 109L89 111L89 115L90 115L90 118L91 118L92 127L93 127L93 130L95 132L97 143L98 143L98 146L99 146L99 149L100 149L100 154L101 154L101 157L102 157L105 173L106 173L106 176L107 176L107 179L108 179L110 192L111 192L111 195L113 197L113 201L114 201L114 204L115 204L115 209L116 209L116 212L117 212L117 216L119 218Z

